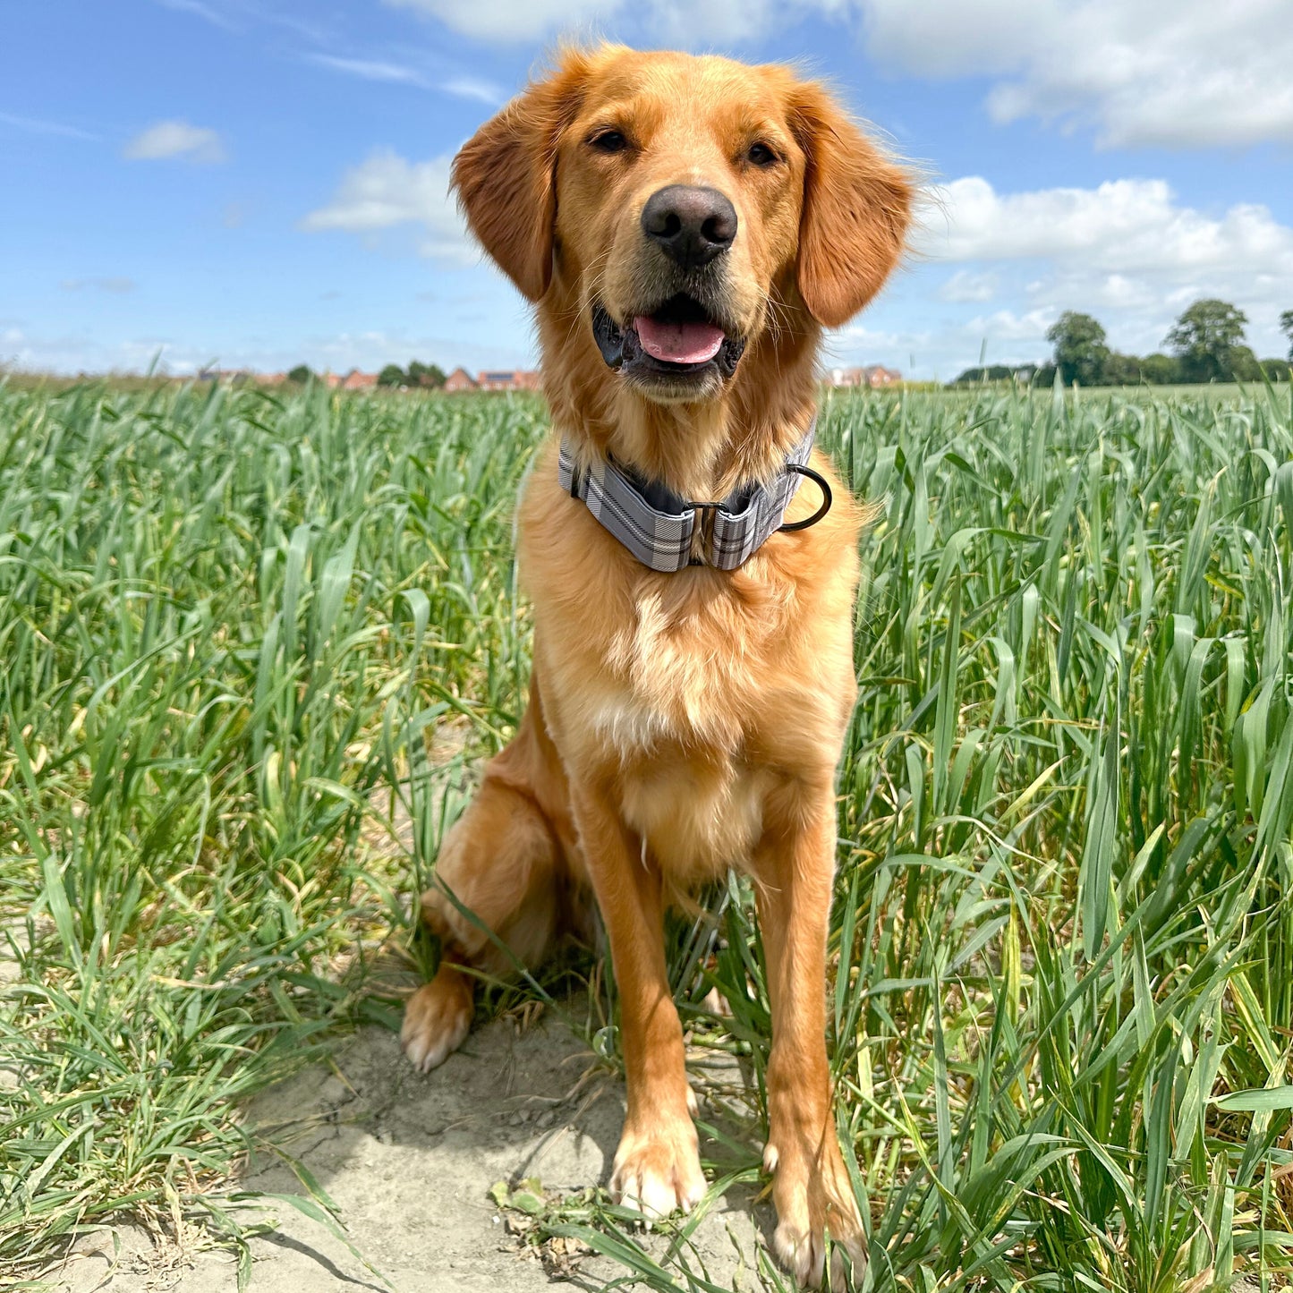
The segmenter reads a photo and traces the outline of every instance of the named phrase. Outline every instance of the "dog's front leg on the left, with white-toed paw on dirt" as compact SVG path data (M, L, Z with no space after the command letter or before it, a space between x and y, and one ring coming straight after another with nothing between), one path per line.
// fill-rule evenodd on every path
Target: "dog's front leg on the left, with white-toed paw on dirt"
M610 1190L645 1217L689 1212L705 1173L665 966L659 868L604 796L581 789L572 799L619 989L628 1112Z

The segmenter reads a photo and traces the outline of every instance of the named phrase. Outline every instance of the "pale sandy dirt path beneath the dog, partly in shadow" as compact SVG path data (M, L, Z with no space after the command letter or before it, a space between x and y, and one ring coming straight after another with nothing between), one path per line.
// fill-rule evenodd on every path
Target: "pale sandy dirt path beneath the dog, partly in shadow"
M372 1027L350 1038L334 1064L270 1089L248 1116L262 1126L292 1125L291 1152L335 1200L354 1246L390 1285L400 1293L572 1287L550 1279L511 1234L516 1214L500 1213L490 1199L498 1181L538 1177L546 1191L568 1192L606 1179L623 1086L596 1071L593 1055L561 1021L540 1019L518 1032L509 1020L495 1020L425 1076L407 1065L390 1032ZM253 1164L242 1184L299 1191L277 1161ZM758 1205L754 1219L750 1209L750 1190L733 1187L697 1231L698 1253L721 1287L763 1288L755 1248L771 1209ZM290 1206L275 1208L274 1217L274 1232L252 1243L253 1293L384 1288L317 1223ZM83 1240L54 1284L58 1293L237 1289L228 1254L154 1244L131 1228L115 1240L115 1257L112 1236ZM658 1237L650 1243L662 1250ZM584 1257L572 1274L574 1287L600 1289L625 1272Z

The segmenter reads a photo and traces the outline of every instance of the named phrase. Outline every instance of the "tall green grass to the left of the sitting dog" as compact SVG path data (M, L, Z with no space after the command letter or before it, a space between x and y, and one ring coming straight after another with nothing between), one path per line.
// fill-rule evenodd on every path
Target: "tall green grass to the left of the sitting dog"
M515 721L539 414L0 387L0 1270L122 1209L233 1227L237 1102L403 922L375 787Z

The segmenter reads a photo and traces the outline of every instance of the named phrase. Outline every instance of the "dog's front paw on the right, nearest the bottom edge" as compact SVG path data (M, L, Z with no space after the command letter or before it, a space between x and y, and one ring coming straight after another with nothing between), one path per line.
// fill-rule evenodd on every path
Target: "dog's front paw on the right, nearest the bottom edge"
M807 1138L787 1139L784 1149L772 1139L763 1151L763 1166L773 1173L772 1199L777 1230L772 1246L781 1265L799 1284L821 1285L826 1265L826 1232L853 1263L855 1277L866 1262L862 1218L852 1183L831 1127L816 1146ZM831 1288L844 1287L844 1263L837 1250L830 1267Z

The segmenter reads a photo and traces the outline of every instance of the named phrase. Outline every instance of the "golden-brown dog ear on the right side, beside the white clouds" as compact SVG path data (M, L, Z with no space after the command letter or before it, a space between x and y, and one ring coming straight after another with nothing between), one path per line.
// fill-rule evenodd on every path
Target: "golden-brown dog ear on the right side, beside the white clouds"
M808 159L799 295L818 323L839 327L881 290L903 253L912 181L821 87L798 88L790 120Z

